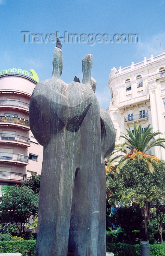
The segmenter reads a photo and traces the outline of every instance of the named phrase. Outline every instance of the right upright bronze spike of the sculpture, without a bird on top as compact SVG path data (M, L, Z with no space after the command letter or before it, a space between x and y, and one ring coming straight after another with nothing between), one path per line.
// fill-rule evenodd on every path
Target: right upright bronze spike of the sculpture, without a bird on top
M82 61L83 80L82 83L91 85L91 68L93 64L92 54L87 54Z

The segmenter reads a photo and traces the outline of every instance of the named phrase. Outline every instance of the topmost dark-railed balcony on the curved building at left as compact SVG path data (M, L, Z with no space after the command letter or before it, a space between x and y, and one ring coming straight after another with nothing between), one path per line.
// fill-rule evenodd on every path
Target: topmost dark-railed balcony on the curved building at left
M23 109L25 111L29 111L29 104L22 102L22 101L16 101L12 99L0 99L0 108L12 108L14 109Z

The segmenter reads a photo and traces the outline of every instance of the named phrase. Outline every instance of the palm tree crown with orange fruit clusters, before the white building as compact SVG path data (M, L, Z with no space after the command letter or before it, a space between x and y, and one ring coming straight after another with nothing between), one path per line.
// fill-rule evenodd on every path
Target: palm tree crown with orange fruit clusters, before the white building
M107 168L111 170L115 170L119 173L119 169L122 168L127 162L138 159L143 160L148 168L148 170L153 173L154 166L153 163L158 164L160 159L155 157L154 155L148 155L146 152L150 150L152 147L160 146L165 148L165 139L156 138L158 135L162 135L161 132L152 132L152 128L148 125L144 131L142 131L141 125L134 125L134 134L131 132L130 127L126 129L128 135L122 133L120 138L125 139L123 144L118 144L113 151L115 153L122 153L114 158L109 160ZM129 151L129 153L128 153ZM118 164L112 167L113 162L117 162Z

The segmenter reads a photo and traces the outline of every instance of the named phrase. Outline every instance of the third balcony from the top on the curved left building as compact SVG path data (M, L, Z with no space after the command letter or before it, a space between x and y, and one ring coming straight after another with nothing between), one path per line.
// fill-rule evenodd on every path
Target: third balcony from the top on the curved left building
M17 134L0 133L0 142L9 142L13 144L21 144L24 146L30 146L30 138L20 136Z

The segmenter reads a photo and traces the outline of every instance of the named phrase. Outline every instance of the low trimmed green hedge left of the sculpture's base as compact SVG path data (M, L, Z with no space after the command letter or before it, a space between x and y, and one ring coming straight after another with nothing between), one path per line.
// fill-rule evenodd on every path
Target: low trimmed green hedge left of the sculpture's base
M35 256L36 240L1 241L0 253L20 252L22 256Z

